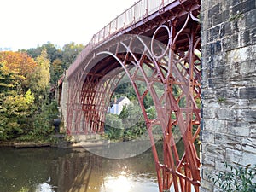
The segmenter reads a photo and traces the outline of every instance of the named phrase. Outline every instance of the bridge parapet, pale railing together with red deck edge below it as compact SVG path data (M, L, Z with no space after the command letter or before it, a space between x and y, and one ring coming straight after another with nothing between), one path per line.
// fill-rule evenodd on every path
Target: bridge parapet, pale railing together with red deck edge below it
M97 32L90 39L90 42L85 46L82 52L78 55L76 60L73 62L71 67L68 68L67 79L72 76L79 65L84 61L87 55L98 45L105 43L115 36L121 35L132 31L132 29L137 28L148 20L150 15L154 13L164 13L169 11L178 5L183 5L185 7L188 4L195 4L195 9L198 8L197 1L195 0L140 0L129 9L126 9L122 14L118 15L114 20L104 26L102 30ZM191 5L190 5L191 6ZM191 8L190 8L191 9ZM173 14L173 13L172 13Z

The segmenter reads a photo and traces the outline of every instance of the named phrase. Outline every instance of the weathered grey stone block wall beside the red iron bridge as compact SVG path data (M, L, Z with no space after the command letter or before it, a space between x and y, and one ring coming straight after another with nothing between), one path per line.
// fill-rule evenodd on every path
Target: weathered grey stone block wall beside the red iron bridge
M227 161L256 164L256 1L202 0L201 192Z

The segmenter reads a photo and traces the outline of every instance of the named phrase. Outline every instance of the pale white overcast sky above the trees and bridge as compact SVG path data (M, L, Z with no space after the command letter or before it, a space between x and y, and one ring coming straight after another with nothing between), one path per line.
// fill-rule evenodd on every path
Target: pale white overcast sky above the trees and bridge
M87 44L137 0L0 0L0 49Z

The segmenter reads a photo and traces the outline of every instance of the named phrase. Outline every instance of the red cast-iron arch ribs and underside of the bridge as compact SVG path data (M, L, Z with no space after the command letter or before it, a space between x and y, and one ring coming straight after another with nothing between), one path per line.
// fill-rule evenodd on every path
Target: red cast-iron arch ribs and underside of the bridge
M97 45L68 77L69 134L102 133L113 92L128 77L147 125L161 192L172 184L175 191L199 191L201 181L195 149L201 122L200 4L177 2ZM143 104L146 96L154 101L154 118ZM162 162L154 147L157 129L163 137ZM183 155L177 153L177 138L182 138Z

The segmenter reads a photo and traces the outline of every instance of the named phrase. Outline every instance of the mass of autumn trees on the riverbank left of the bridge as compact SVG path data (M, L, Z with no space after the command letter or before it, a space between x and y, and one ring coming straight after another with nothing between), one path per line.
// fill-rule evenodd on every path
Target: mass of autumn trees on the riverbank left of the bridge
M54 132L57 102L50 88L84 48L47 43L0 52L0 141L46 141Z

